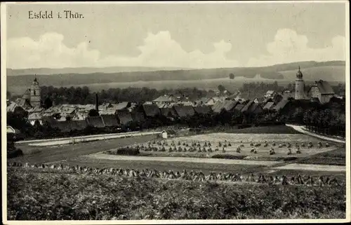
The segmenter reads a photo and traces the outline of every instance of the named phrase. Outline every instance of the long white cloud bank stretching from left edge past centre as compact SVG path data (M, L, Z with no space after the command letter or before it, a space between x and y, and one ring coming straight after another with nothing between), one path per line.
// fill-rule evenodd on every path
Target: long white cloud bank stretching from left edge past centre
M225 54L232 49L230 43L213 43L214 51L204 54L200 50L190 53L171 38L168 31L149 33L142 46L138 46L140 55L107 55L101 57L99 50L91 50L88 43L79 43L68 48L63 43L64 36L46 33L39 40L28 37L9 39L7 43L8 67L24 68L62 68L62 67L193 67L216 68L236 67L237 61L229 60Z

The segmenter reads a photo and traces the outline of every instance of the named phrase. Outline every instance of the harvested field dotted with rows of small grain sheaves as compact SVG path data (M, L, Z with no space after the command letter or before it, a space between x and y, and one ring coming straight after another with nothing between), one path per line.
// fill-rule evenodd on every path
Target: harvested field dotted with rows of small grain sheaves
M318 146L321 142L322 146ZM312 145L309 147L308 144ZM328 146L326 144L328 143ZM290 146L289 146L290 144ZM305 145L305 146L303 146ZM141 155L147 156L187 156L211 158L215 155L242 156L242 159L280 160L286 157L305 158L314 154L336 149L336 144L320 141L308 135L291 134L232 134L211 133L187 137L174 137L166 140L153 139L143 144L131 144L130 149L140 149ZM239 152L237 151L239 148ZM270 151L274 150L274 154ZM291 149L291 153L289 153ZM298 149L300 153L298 154ZM224 151L223 151L224 150ZM253 150L256 151L253 152ZM116 154L111 149L107 154Z

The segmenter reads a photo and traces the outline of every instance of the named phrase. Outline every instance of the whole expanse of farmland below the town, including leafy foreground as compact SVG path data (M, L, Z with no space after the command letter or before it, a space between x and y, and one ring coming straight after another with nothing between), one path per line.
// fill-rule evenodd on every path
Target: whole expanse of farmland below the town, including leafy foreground
M258 144L257 140L260 140L260 146L250 146L251 142ZM265 140L267 146L264 146ZM216 149L221 142L222 149L218 146L218 151L201 153L168 152L168 149L141 151L141 156L106 154L107 151L126 149L126 146L130 149L142 144L147 147L148 143L159 148L163 143L166 149L166 142L168 147L173 146L173 142L177 148L184 148L186 144L189 147L196 142L200 149L205 147L206 150L208 143ZM273 142L276 154L270 155ZM284 142L286 146L279 148ZM309 142L313 145L310 148L307 147ZM321 148L317 147L318 142L322 142ZM288 143L292 145L291 149L296 143L306 146L301 147L301 154L292 151L289 156L297 157L295 160L280 161L288 157ZM227 145L225 153L222 152L224 144ZM244 146L237 153L237 146L241 144ZM212 133L170 139L150 135L59 146L23 143L18 147L25 151L25 156L13 158L9 163L19 161L35 166L8 167L8 219L345 218L345 166L335 163L340 158L345 160L345 148L333 143L326 147L325 141L307 135ZM252 148L258 152L251 153ZM191 154L204 157L191 158ZM211 158L215 155L237 156L241 160ZM334 164L313 165L326 158ZM58 170L58 165L62 169ZM91 170L95 172L84 172ZM128 173L112 175L107 172L111 170ZM166 172L166 176L177 172L179 175L186 170L195 175L191 179L140 177L139 172L144 170ZM138 171L138 176L131 176L130 171ZM214 173L217 178L201 180L197 173L206 177ZM243 178L233 182L218 178L218 175ZM274 181L278 183L259 182L260 175L266 179L275 177ZM248 182L251 176L255 178ZM300 176L305 183L293 181ZM282 185L284 177L288 177L289 185ZM320 186L320 177L324 181L328 177L329 181L336 179L337 182ZM309 180L313 183L307 183Z

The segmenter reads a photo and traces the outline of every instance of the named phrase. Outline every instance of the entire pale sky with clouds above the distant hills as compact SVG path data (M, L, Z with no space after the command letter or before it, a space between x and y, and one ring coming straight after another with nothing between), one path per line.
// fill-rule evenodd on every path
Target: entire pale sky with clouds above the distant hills
M8 4L7 67L218 68L345 60L345 7ZM65 10L84 18L65 19ZM29 11L53 11L53 19L29 19Z

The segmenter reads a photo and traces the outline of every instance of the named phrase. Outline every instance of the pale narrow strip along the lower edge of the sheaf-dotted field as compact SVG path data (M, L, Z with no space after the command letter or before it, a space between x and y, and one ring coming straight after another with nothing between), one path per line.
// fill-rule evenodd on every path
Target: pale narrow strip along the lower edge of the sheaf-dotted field
M220 163L220 164L242 164L242 165L274 165L277 161L249 161L223 158L186 158L186 157L149 157L149 156L115 156L109 154L91 154L84 156L94 159L109 159L123 161L168 161L168 162L189 162L189 163Z

